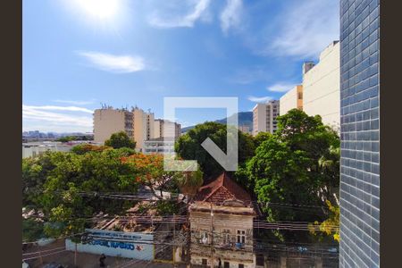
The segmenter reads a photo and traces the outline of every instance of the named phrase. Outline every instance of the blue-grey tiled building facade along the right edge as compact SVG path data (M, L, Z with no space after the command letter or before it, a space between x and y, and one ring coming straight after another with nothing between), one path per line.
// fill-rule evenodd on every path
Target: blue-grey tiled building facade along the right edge
M339 267L380 266L379 12L340 0Z

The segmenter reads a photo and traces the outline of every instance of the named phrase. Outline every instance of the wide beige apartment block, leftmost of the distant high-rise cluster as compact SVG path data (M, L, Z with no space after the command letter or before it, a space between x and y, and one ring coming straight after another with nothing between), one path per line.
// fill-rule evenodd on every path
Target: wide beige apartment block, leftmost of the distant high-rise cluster
M94 141L104 143L113 133L124 131L133 137L133 115L125 109L105 107L94 112Z

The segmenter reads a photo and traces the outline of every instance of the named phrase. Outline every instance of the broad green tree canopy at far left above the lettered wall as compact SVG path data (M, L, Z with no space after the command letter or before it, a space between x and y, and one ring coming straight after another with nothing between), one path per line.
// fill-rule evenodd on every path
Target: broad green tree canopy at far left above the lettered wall
M129 200L101 198L113 192L136 193L136 171L121 162L119 150L92 151L84 155L48 152L23 160L23 205L44 214L47 236L80 233L90 227L88 218L102 212L125 213Z

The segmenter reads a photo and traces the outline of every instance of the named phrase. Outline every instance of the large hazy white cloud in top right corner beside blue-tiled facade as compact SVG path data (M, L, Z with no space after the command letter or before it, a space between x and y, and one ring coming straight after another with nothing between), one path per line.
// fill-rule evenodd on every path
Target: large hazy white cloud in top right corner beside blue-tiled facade
M279 17L279 34L267 38L264 54L312 58L339 39L339 1L295 1Z

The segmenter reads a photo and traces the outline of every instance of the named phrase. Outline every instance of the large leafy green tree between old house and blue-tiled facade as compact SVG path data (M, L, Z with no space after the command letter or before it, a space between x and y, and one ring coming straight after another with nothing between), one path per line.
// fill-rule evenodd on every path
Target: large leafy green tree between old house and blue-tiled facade
M278 130L256 148L243 176L249 176L268 221L322 222L326 215L319 206L339 188L339 137L320 116L297 109L277 121ZM295 233L276 233L295 239Z

